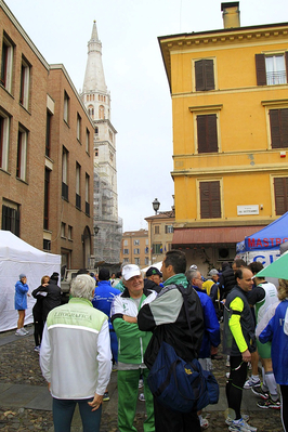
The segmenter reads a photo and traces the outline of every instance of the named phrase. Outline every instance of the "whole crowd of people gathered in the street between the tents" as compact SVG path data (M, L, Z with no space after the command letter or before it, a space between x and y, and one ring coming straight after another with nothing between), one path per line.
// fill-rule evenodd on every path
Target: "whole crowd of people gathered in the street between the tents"
M83 431L100 430L112 370L117 370L120 432L136 431L133 421L142 385L144 432L207 429L201 411L170 409L152 394L147 378L163 342L187 363L198 358L208 371L213 359L226 362L225 422L231 432L257 431L241 413L246 389L258 396L258 407L280 410L284 431L288 430L288 280L279 279L276 288L258 275L262 269L260 262L247 265L235 260L232 266L224 262L221 270L211 269L206 278L195 264L187 270L184 252L171 250L161 270L149 267L145 278L138 265L129 263L112 275L105 267L97 275L79 271L65 304L58 274L43 276L31 292L34 336L53 397L55 432L70 431L77 404ZM188 299L186 310L179 286ZM21 274L15 285L16 336L28 333L24 328L28 291L27 277ZM225 358L219 353L221 323Z

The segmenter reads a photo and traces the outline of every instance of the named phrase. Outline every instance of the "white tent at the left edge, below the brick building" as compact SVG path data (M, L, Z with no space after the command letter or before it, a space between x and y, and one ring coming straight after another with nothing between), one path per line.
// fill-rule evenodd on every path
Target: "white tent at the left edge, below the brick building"
M19 274L27 276L28 293L31 293L41 284L41 277L53 272L61 273L61 256L43 252L10 231L0 230L0 331L17 326L14 293ZM27 297L25 324L32 323L34 304L35 299Z

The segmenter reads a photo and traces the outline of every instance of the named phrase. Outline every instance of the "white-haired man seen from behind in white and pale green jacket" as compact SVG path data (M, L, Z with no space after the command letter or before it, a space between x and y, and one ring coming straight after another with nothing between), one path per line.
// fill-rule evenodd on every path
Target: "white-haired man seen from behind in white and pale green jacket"
M55 432L69 432L76 404L83 432L99 432L112 369L107 316L93 307L95 280L77 276L71 299L47 318L40 366L53 397Z

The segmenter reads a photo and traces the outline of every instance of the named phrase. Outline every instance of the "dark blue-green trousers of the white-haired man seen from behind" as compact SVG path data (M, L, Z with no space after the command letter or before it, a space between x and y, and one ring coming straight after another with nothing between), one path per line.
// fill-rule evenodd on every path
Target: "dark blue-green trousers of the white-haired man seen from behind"
M53 397L53 422L54 432L70 432L70 426L76 404L79 405L79 411L82 420L83 432L99 432L102 405L95 411L88 405L93 397L88 400L56 400Z

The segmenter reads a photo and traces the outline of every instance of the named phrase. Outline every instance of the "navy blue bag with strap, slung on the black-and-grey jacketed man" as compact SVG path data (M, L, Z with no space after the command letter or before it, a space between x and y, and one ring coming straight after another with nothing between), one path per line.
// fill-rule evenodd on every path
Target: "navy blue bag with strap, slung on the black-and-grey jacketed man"
M178 289L183 296L189 325L185 291L182 286L178 286ZM197 358L192 362L182 359L167 342L161 343L147 381L154 397L174 411L198 411L219 401L219 385L214 376L204 370Z

